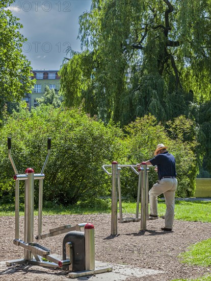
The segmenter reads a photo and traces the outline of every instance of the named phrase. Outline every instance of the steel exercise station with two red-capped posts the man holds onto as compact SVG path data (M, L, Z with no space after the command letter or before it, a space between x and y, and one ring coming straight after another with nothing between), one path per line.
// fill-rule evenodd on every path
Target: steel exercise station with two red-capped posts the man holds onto
M105 168L112 168L112 172L108 172ZM137 175L138 193L136 205L136 217L123 218L122 217L122 199L121 199L121 184L120 171L121 168L131 168ZM119 195L119 223L141 221L141 230L146 230L146 221L148 219L148 171L145 162L141 163L141 168L138 171L135 169L137 165L118 165L117 161L113 161L112 165L103 165L102 169L105 173L112 176L112 212L111 212L111 235L117 235L117 198ZM141 197L141 217L139 217L139 203Z

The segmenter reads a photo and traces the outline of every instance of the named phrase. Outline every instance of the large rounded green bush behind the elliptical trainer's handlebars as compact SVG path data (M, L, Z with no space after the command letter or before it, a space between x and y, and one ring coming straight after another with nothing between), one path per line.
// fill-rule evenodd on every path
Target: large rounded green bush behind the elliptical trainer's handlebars
M7 151L7 136L12 137L12 156L17 170L23 174L31 167L40 173L46 154L47 137L51 137L51 153L45 170L43 198L61 204L74 204L89 197L108 195L111 178L101 166L120 158L122 131L111 124L89 118L80 110L61 110L39 106L14 113L1 130L0 182L2 198L14 196L14 171ZM38 202L38 182L35 202ZM20 181L22 191L23 182ZM23 193L21 192L21 198Z

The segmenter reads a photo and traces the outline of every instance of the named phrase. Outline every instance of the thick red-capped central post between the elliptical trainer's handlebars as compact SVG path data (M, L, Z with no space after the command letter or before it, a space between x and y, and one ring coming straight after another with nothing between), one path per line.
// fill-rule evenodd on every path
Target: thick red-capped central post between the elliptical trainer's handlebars
M25 170L28 179L25 180L25 206L24 206L24 242L33 242L34 234L34 170ZM24 260L32 260L33 254L24 249Z

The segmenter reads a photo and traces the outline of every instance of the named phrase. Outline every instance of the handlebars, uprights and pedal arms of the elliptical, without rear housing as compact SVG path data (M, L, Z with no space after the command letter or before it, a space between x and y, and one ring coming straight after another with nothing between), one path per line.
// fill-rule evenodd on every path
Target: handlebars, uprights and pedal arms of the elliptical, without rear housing
M18 174L17 168L15 166L14 160L11 155L11 137L8 137L8 153L9 158L15 172L13 179L15 180L15 239L13 243L17 246L24 248L24 258L19 260L7 261L6 265L12 264L36 264L47 267L58 267L61 268L64 265L69 265L70 261L61 261L55 256L50 255L50 250L39 245L38 243L33 243L34 240L34 180L39 179L39 210L38 210L38 235L36 240L44 239L46 237L51 237L59 235L61 233L66 233L72 230L81 230L82 227L86 225L77 224L71 227L71 225L64 225L54 229L50 229L48 233L42 233L42 202L43 202L43 179L45 177L44 170L47 165L51 147L51 138L47 139L47 156L42 167L40 174L35 174L32 168L25 170L25 174ZM19 229L19 180L25 180L25 192L24 192L24 241L20 239L20 229ZM35 259L33 259L33 255ZM49 260L50 262L42 261L41 257Z

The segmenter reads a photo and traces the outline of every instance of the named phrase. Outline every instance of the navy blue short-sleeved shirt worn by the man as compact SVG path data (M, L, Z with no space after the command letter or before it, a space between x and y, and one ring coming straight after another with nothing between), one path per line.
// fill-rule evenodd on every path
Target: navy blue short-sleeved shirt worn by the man
M156 155L149 160L153 166L157 166L159 179L165 176L176 177L175 158L168 151Z

